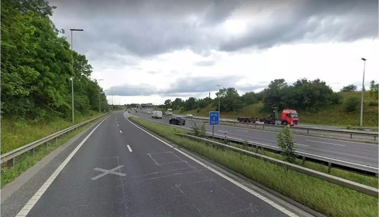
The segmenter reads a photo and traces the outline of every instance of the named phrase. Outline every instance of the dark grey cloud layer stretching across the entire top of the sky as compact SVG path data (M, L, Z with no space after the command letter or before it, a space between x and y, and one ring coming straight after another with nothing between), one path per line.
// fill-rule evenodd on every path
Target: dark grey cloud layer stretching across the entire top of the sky
M290 12L274 9L290 2ZM74 49L100 55L141 57L189 48L207 56L211 49L235 52L298 41L350 42L379 36L378 0L52 0L58 28L74 33ZM272 15L262 25L254 20L240 37L227 37L220 24L246 4L249 14ZM93 58L96 58L94 55Z

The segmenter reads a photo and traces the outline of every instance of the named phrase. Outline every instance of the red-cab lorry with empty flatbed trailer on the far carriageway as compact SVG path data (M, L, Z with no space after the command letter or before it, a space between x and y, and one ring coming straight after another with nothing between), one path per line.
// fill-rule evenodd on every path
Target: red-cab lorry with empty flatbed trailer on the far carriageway
M238 122L263 122L265 124L280 124L280 125L298 125L299 124L299 114L294 109L283 109L280 119L278 118L278 108L274 107L273 114L269 115L267 118L262 117L238 117Z

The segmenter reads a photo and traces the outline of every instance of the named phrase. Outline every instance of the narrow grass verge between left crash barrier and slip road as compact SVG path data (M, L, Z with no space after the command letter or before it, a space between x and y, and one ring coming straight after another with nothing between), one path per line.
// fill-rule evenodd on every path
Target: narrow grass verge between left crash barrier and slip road
M91 119L92 117L88 117L88 119ZM97 119L99 120L99 119ZM97 121L94 120L91 123ZM85 120L82 120L83 122ZM70 134L65 134L63 137L58 139L56 142L51 142L48 146L46 145L40 145L35 148L35 155L30 155L28 152L24 153L23 155L17 157L16 163L14 167L7 168L6 163L0 164L0 189L2 189L6 184L12 182L14 179L16 179L19 175L21 175L22 172L26 171L28 168L32 167L34 164L36 164L38 161L40 161L42 158L44 158L47 154L55 150L60 145L66 143L69 139L76 136L80 132L86 130L91 125L82 126L80 128L76 128L73 130ZM67 127L66 127L67 128ZM65 129L65 128L63 128ZM63 130L60 129L60 130ZM59 130L57 130L59 131ZM55 133L55 132L53 132ZM50 133L52 134L52 133ZM48 134L48 135L50 135ZM46 135L46 136L48 136ZM43 136L44 137L44 136ZM38 138L40 139L40 138ZM38 140L35 139L34 141Z

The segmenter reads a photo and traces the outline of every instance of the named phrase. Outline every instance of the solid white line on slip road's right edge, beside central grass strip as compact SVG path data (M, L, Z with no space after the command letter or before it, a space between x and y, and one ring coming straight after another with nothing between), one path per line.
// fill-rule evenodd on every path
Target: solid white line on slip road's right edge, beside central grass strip
M125 116L124 116L125 117ZM139 128L140 130L144 131L145 133L149 134L150 136L154 137L155 139L158 139L160 142L162 142L163 144L165 145L168 145L169 147L171 148L174 148L172 145L168 144L167 142L164 142L163 140L159 139L158 137L154 136L153 134L147 132L146 130L142 129L141 127L139 127L138 125L136 125L135 123L133 123L132 121L130 121L129 119L127 119L127 117L125 117L126 120L128 120L128 122L132 123L134 126L136 126L137 128ZM275 203L274 201L258 194L257 192L255 192L254 190L251 190L250 188L244 186L243 184L233 180L232 178L229 178L228 176L222 174L221 172L213 169L212 167L204 164L203 162L197 160L196 158L193 158L192 156L188 155L187 153L184 153L183 151L177 149L177 148L174 148L174 150L178 151L179 153L181 153L182 155L186 156L187 158L195 161L196 163L202 165L203 167L207 168L208 170L216 173L217 175L221 176L222 178L226 179L227 181L235 184L236 186L240 187L241 189L243 190L246 190L247 192L249 192L250 194L254 195L255 197L258 197L259 199L265 201L266 203L268 203L269 205L273 206L274 208L278 209L279 211L282 211L283 213L287 214L288 216L293 216L293 217L299 217L298 215L294 214L293 212L285 209L284 207L278 205L277 203Z

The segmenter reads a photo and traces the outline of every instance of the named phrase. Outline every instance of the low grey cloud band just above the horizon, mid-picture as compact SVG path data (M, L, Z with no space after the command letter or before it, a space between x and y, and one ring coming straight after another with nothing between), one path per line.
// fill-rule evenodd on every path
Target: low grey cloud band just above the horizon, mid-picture
M261 82L250 85L237 85L236 82L243 79L242 76L223 76L223 77L189 77L178 78L171 83L167 89L157 90L151 84L131 85L125 84L113 86L106 92L107 95L119 96L148 96L158 94L161 96L191 96L198 95L204 92L218 91L221 88L234 87L237 91L254 91L263 87L267 87L268 82Z

